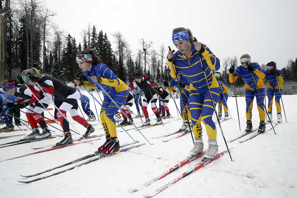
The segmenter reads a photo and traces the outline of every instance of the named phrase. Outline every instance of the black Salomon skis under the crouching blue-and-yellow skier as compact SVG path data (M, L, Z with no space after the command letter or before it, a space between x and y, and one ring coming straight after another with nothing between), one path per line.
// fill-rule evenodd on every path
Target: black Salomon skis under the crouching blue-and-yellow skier
M128 145L136 144L136 143L138 143L138 142L139 142L139 141L132 142L132 143L128 143L128 144L126 144L126 145L122 145L120 148L122 148L122 147L126 147L126 146L128 146ZM96 151L96 152L94 152L94 153L92 153L92 154L83 156L83 157L81 157L81 158L79 158L79 159L75 159L75 160L73 160L73 161L67 162L67 163L62 164L62 165L60 165L60 166L57 166L57 167L54 167L54 168L51 168L51 169L48 169L48 170L45 170L45 171L42 171L42 172L33 174L33 175L28 175L28 176L20 175L20 176L22 176L22 177L26 177L26 178L30 178L30 177L33 177L33 176L41 175L41 174L43 174L43 173L50 172L50 171L52 171L52 170L55 170L55 169L58 169L58 168L61 168L61 167L65 167L65 166L67 166L67 165L74 164L74 163L83 161L83 160L85 160L85 159L89 159L89 158L91 158L91 159L89 159L89 160L87 160L87 161L84 161L84 162L82 162L82 163L80 163L80 164L76 164L76 165L74 165L74 166L72 166L72 167L70 167L70 168L67 168L67 169L65 169L65 170L61 170L61 171L52 173L52 174L50 174L50 175L43 176L43 177L39 177L39 178L36 178L36 179L33 179L33 180L18 181L18 182L21 182L21 183L31 183L31 182L34 182L34 181L42 180L42 179L51 177L51 176L53 176L53 175L58 175L58 174L60 174L60 173L66 172L66 171L68 171L68 170L72 170L72 169L74 169L74 168L76 168L76 167L80 167L80 166L82 166L82 165L89 164L90 162L97 161L97 160L102 159L102 158L105 158L105 157L113 156L113 155L116 155L116 154L118 154L118 153L128 151L128 150L130 150L130 149L132 149L132 148L140 147L140 146L142 146L142 145L145 145L145 143L140 143L140 144L138 144L138 145L130 146L130 147L127 147L127 148L122 148L122 149L120 149L119 151L115 151L115 152L108 153L108 154L105 154L105 153ZM92 157L93 157L93 158L92 158Z

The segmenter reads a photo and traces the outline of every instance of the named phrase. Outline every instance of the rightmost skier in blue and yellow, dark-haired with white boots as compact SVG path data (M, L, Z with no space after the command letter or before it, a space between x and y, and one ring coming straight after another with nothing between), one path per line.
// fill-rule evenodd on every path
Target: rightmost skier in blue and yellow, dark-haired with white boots
M267 97L268 97L268 116L272 120L272 102L275 95L275 106L277 107L277 122L282 122L282 107L279 100L282 95L282 83L284 82L282 71L277 69L276 63L271 61L266 65L267 70L264 72L265 80L268 81Z

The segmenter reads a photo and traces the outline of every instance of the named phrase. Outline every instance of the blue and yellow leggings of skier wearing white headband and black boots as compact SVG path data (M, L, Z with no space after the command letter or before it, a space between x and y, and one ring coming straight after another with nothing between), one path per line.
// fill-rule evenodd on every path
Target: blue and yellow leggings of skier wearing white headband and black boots
M252 109L253 109L253 101L254 101L255 96L256 96L257 108L259 111L260 121L265 120L265 110L264 110L264 105L262 102L262 101L264 101L265 89L260 88L259 91L260 91L261 97L260 97L257 89L254 89L254 90L245 89L245 102L247 104L245 114L246 114L247 120L252 120ZM261 98L262 98L262 100L261 100Z

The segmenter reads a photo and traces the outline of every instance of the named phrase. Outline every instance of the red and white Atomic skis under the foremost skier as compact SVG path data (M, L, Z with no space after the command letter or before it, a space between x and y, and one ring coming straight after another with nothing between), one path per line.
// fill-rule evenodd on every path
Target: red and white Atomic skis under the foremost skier
M132 187L130 188L133 191L138 191L141 190L143 188L145 188L146 186L151 185L152 183L154 183L157 180L160 180L162 178L164 178L165 176L169 175L170 173L172 173L174 170L177 170L178 168L188 164L190 161L193 161L201 156L203 156L205 153L205 151L203 151L203 153L194 156L193 158L190 159L184 159L183 161L179 162L178 164L176 164L175 166L163 171L161 174L157 175L156 177L154 177L153 179L147 180L145 181L143 184L138 185L136 187ZM150 192L146 193L146 194L142 194L145 197L153 197L156 194L159 194L160 192L162 192L163 190L167 189L170 185L173 185L174 183L178 182L179 180L185 178L186 176L188 176L189 174L195 172L196 170L199 170L200 168L202 168L203 166L205 166L206 164L209 164L211 161L214 161L216 159L219 159L222 155L224 155L225 153L228 153L228 150L223 151L221 153L218 153L217 156L215 156L213 159L202 159L202 161L200 161L198 164L196 164L194 167L192 167L191 169L187 170L186 172L182 173L181 175L178 175L175 179L170 180L169 182L165 183L164 185L158 186L155 189L150 190Z

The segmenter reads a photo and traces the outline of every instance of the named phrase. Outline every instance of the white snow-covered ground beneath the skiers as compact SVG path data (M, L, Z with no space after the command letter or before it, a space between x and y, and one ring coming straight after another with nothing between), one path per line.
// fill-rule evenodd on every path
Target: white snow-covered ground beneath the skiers
M85 94L89 96L88 93ZM239 143L236 140L228 143L229 148L233 148L231 150L233 161L230 160L228 154L225 154L155 197L297 197L297 121L295 120L297 96L284 95L282 97L288 122L285 121L285 115L282 112L283 122L275 128L277 135L274 134L273 130L270 130L247 142ZM238 127L235 98L229 97L228 106L233 120L222 122L226 140L231 140L242 134L246 127L245 98L239 97L237 101L241 131L239 131ZM134 140L145 142L146 145L29 184L19 183L18 180L27 180L19 175L34 174L93 153L105 142L105 138L101 137L101 140L91 142L91 144L82 143L0 162L1 197L143 197L142 194L167 183L201 160L200 158L190 162L140 191L129 190L129 188L157 176L162 171L185 159L193 146L190 134L169 142L163 142L162 140L170 137L151 138L175 131L181 126L181 120L174 121L177 119L177 111L172 100L170 100L168 106L170 113L175 118L167 119L164 122L171 120L171 123L141 130L152 145L138 131L129 130L128 132ZM98 104L96 104L96 107L97 110L100 109ZM91 110L95 112L92 99ZM136 112L135 106L132 107L132 110ZM148 108L148 110L149 114L152 115L151 109ZM53 113L53 111L51 112ZM50 117L47 112L45 115ZM86 117L86 115L84 116ZM71 119L70 116L68 117ZM23 113L21 118L26 120ZM150 118L151 123L154 123L155 116L150 116ZM137 126L141 125L140 119L134 119L134 122ZM255 101L252 122L253 128L259 125ZM91 123L97 124L98 120ZM273 104L273 123L276 123L275 104ZM54 126L60 129L57 124L54 124ZM74 126L81 134L86 130L78 123L75 123ZM21 127L25 129L25 126ZM266 129L270 129L270 127L271 125L266 125ZM94 128L96 129L94 134L103 134L100 125L94 126ZM126 126L126 128L132 128L132 126ZM54 134L61 134L52 127L50 129L56 131ZM226 145L218 125L217 129L219 152L225 151ZM1 133L0 136L23 133L29 134L30 131ZM79 135L73 134L74 139L78 137ZM125 132L119 132L118 138L121 144L132 141ZM20 137L1 139L0 144L19 139ZM61 137L0 148L0 161L34 152L35 150L31 149L31 147L51 145L59 140L61 140ZM207 140L208 137L203 126L205 149L208 145ZM61 168L61 170L63 169ZM53 172L55 171L58 170Z

